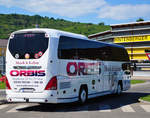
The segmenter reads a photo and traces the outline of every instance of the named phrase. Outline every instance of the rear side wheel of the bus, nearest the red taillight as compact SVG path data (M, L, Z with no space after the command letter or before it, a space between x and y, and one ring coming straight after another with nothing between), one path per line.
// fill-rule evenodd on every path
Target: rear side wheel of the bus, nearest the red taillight
M87 101L87 90L84 87L81 87L79 92L79 102L84 104Z

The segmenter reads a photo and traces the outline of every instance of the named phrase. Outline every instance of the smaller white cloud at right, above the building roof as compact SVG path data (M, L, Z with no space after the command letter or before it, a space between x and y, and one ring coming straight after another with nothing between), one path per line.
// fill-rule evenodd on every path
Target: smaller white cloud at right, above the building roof
M99 12L100 18L110 18L115 20L123 20L139 17L150 17L150 5L117 5L105 6Z

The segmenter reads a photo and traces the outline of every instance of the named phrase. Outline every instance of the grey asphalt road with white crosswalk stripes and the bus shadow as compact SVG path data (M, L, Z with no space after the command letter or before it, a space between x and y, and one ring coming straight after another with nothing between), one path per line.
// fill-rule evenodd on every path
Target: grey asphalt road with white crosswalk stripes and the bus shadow
M138 99L150 94L150 82L138 84L121 96L107 95L86 104L12 103L0 105L0 118L149 118L150 104Z

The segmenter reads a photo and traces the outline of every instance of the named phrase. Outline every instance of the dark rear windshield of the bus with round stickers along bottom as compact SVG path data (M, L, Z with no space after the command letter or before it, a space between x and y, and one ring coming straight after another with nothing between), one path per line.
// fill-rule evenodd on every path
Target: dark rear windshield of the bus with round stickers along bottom
M16 59L38 59L48 48L48 38L45 33L15 34L8 48Z

